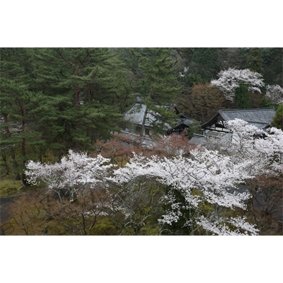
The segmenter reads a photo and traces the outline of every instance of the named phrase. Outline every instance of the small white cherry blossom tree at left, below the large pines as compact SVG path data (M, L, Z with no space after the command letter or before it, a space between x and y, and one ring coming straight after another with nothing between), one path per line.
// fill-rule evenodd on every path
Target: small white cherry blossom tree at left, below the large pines
M57 163L42 164L40 162L29 161L26 165L28 170L25 175L28 182L37 185L42 180L48 188L58 193L66 190L70 195L70 201L74 201L76 193L81 191L86 185L95 186L103 183L105 174L108 173L112 164L108 158L98 155L96 158L88 157L86 153L78 153L69 150L69 154L64 156Z

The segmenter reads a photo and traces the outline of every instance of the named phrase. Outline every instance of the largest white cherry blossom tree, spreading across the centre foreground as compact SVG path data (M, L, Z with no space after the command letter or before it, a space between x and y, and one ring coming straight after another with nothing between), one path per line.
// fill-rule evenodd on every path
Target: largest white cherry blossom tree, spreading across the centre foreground
M204 223L209 221L212 226L223 226L229 221L221 215L223 209L246 208L245 201L248 200L249 194L239 192L238 184L246 178L253 178L245 170L250 166L250 161L234 164L229 156L200 149L193 150L190 154L190 158L178 156L171 159L134 156L124 168L114 171L113 176L108 180L123 185L134 180L154 178L169 188L162 197L162 202L167 204L168 209L159 219L161 225L178 222L185 209L193 214L188 214L185 223L185 226L190 226L192 235L198 233L200 229L206 230L207 233L218 233L209 229ZM183 195L184 202L176 200L175 191ZM210 207L208 211L204 209L206 205ZM233 223L236 223L236 226L234 225L236 230L227 228L227 231L257 233L253 225L248 224L245 219L235 218ZM229 222L230 225L233 223ZM219 234L222 234L221 229Z

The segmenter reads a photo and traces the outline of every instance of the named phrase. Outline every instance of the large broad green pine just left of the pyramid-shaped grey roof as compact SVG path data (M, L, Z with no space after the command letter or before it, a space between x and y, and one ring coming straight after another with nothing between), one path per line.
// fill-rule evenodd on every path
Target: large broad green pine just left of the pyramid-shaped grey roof
M106 48L37 49L35 87L57 98L57 141L86 149L117 130L129 89L117 54Z

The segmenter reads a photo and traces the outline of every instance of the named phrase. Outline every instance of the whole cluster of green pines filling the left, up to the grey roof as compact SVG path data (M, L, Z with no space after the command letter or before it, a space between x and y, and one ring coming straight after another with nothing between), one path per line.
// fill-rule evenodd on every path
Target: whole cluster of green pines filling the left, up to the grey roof
M0 91L1 149L16 174L30 158L110 137L129 99L121 62L104 48L1 49Z

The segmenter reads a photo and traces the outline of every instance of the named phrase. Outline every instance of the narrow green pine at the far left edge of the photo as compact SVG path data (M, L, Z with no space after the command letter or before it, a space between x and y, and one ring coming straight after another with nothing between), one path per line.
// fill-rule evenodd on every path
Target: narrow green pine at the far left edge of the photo
M50 112L42 93L30 90L30 57L27 50L1 50L1 147L11 154L14 173L18 179L25 161L40 158L45 146L44 129ZM52 108L51 108L52 109ZM42 117L45 117L42 121ZM25 176L22 175L23 183Z

